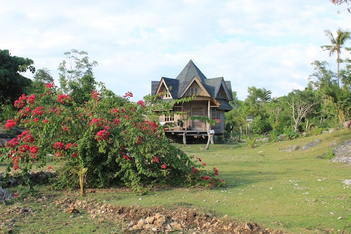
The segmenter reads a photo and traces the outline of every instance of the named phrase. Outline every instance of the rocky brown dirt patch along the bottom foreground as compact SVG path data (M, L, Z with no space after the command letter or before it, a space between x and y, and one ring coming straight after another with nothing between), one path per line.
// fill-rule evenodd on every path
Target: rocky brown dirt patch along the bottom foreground
M283 234L254 223L235 222L228 215L214 216L188 207L167 209L163 206L143 208L138 206L114 206L92 199L56 201L62 212L86 212L98 222L122 224L126 234L191 233L191 234ZM72 212L73 213L73 212Z

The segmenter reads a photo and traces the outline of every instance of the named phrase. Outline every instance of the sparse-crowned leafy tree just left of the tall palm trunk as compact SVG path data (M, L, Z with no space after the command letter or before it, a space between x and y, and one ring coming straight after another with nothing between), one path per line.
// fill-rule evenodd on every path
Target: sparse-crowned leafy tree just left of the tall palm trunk
M336 74L332 72L329 63L326 61L315 60L312 63L313 74L309 76L308 86L315 89L321 89L325 86L336 83Z

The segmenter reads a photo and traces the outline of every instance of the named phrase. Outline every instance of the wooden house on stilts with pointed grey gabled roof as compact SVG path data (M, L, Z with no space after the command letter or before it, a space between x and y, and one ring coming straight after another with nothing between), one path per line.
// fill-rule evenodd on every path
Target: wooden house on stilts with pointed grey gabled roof
M163 101L176 100L196 95L189 102L174 104L176 115L160 112L159 122L165 127L168 138L177 142L202 142L207 140L208 125L204 120L189 117L209 117L219 120L210 126L211 136L222 135L225 129L224 113L233 109L229 101L233 100L230 81L223 77L206 78L190 60L176 78L162 77L160 81L152 81L151 95L163 93ZM184 114L183 114L184 113Z

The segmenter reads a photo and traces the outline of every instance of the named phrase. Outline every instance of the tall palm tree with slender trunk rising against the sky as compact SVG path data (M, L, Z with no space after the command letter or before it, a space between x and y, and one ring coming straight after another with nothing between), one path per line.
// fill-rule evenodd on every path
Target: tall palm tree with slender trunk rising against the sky
M345 44L346 40L351 39L351 32L344 31L342 29L336 30L336 38L332 35L330 30L324 30L325 35L331 42L331 45L322 45L321 48L329 51L329 57L336 52L336 64L337 64L337 84L339 84L339 64L340 64L340 54L341 48Z

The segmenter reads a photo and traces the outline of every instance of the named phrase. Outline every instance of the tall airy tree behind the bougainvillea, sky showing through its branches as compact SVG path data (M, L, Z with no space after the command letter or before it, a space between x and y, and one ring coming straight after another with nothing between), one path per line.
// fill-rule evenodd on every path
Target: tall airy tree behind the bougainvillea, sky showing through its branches
M70 95L77 103L83 103L90 97L98 84L95 81L93 67L98 62L89 62L88 53L75 49L64 53L66 60L59 64L60 92Z

